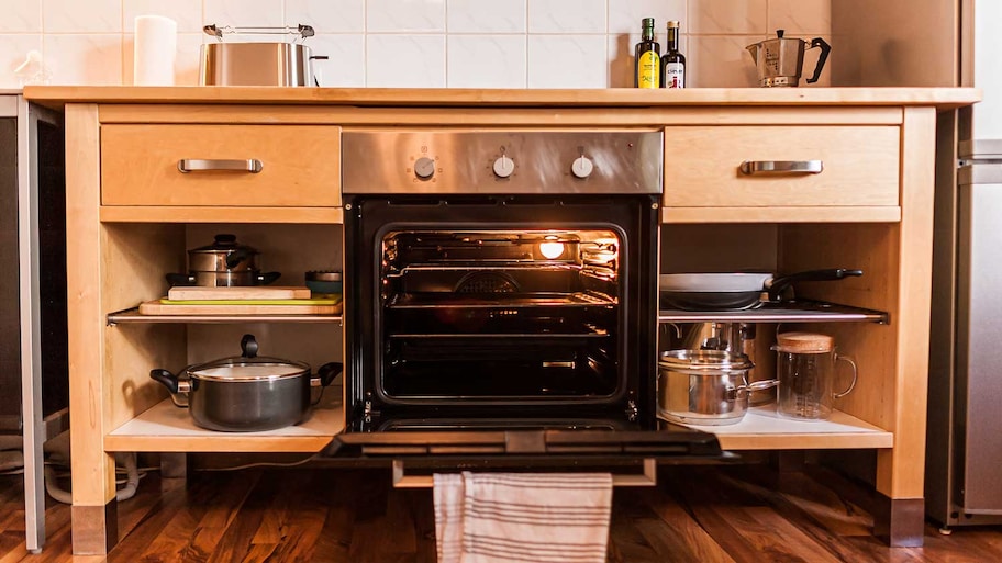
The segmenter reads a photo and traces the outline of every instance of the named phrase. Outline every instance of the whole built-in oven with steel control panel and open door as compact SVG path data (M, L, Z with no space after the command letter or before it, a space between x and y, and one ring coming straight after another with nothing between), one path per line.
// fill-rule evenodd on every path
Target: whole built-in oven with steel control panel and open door
M345 131L365 455L719 457L656 417L659 131Z

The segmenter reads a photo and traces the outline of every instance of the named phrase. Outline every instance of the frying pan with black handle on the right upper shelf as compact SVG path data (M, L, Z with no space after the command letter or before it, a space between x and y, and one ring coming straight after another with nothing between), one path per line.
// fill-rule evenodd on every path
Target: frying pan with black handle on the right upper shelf
M862 270L831 268L808 270L789 275L771 273L666 273L659 277L661 308L683 311L737 311L768 301L779 301L780 294L795 282L833 281L862 275Z

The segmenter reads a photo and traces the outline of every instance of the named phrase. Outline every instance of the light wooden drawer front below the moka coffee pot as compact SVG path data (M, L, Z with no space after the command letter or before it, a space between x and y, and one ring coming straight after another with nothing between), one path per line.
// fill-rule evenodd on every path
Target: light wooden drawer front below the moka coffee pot
M665 205L897 206L899 145L891 125L668 127ZM821 171L742 171L808 161Z

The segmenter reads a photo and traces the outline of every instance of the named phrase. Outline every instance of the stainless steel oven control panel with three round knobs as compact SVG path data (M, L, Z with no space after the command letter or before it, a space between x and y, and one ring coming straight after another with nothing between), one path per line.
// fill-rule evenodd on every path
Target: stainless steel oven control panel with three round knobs
M346 131L344 193L661 193L659 131Z

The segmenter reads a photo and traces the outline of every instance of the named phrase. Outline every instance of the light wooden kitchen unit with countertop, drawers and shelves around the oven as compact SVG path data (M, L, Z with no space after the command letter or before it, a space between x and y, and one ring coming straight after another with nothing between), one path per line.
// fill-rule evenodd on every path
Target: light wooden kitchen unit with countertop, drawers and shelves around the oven
M287 432L175 429L156 418L170 409L148 378L220 356L221 325L278 324L327 353L353 330L339 316L170 322L132 309L162 296L186 248L223 227L267 238L287 255L274 254L281 270L339 261L341 133L388 127L663 132L663 263L713 255L741 269L750 247L780 271L864 269L858 282L805 284L802 295L881 312L876 319L784 320L821 323L860 364L838 416L779 426L749 417L719 438L732 450L875 450L887 499L875 532L892 545L922 541L936 117L976 102L976 90L30 87L25 97L64 111L66 124L75 553L107 553L118 540L116 451L311 452L341 431L336 402ZM250 158L260 173L179 170L185 159ZM817 173L739 171L815 160ZM731 248L711 236L724 227ZM656 322L686 318L660 312Z

